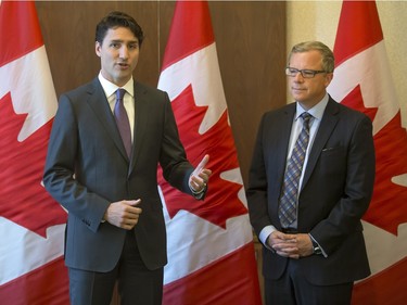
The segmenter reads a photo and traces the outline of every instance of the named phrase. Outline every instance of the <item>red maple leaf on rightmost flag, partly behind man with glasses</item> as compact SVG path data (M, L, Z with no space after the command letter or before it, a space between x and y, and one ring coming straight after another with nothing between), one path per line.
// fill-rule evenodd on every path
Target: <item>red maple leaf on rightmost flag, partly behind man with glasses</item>
M390 101L391 102L391 101ZM372 120L377 109L366 109L357 86L342 102L366 113ZM373 198L364 219L393 234L407 221L407 188L392 181L407 173L407 132L398 112L376 136L376 181Z

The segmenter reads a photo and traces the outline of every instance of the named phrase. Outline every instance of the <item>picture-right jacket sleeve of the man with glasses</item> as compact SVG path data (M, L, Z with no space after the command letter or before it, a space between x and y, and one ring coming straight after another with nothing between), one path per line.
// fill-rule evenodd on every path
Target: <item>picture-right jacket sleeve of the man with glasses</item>
M328 255L349 234L363 230L360 219L368 209L372 196L376 173L374 143L371 120L365 115L355 125L351 137L345 169L343 195L328 217L310 231Z

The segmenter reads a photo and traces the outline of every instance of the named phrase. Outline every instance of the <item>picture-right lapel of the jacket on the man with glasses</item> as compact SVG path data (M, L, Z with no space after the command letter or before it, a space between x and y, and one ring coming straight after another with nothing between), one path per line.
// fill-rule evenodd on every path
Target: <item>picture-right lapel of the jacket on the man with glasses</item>
M308 162L306 165L301 189L303 189L306 186L311 173L314 171L315 165L317 164L317 161L319 158L319 155L321 154L325 144L327 143L329 137L331 136L333 129L336 126L336 123L339 120L338 114L339 106L336 102L330 98L327 107L323 112L322 120L319 125L317 135L315 136L314 144L308 156Z

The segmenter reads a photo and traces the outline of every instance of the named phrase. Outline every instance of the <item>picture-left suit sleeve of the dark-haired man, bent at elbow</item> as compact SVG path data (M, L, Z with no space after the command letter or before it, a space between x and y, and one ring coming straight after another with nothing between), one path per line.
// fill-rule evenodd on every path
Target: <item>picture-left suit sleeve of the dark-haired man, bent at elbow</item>
M43 183L47 191L92 231L97 231L110 202L90 192L74 177L78 151L78 122L62 96L48 147Z

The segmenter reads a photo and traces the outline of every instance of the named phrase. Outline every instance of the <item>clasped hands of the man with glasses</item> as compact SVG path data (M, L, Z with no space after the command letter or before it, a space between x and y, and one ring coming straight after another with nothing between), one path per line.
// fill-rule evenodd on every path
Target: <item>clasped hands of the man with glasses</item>
M313 242L306 233L285 234L274 231L267 239L267 245L278 255L295 259L314 253Z

